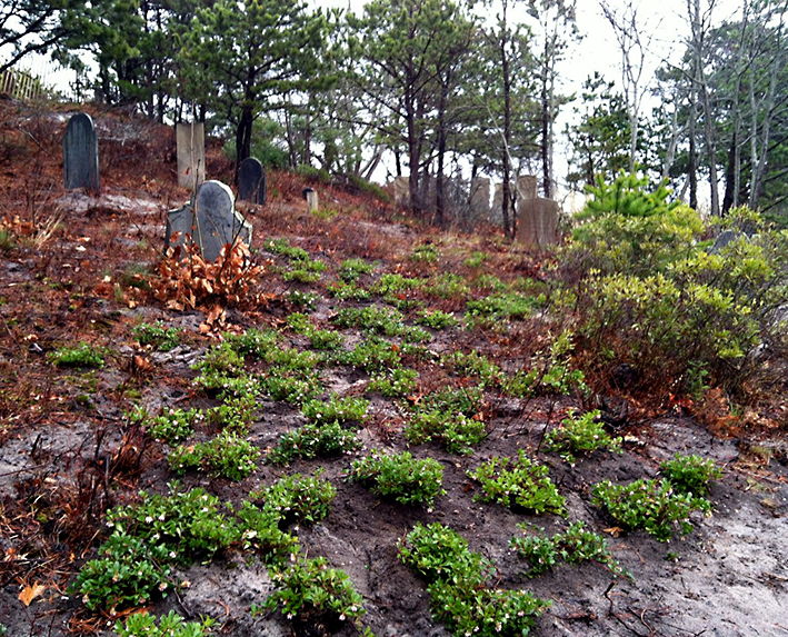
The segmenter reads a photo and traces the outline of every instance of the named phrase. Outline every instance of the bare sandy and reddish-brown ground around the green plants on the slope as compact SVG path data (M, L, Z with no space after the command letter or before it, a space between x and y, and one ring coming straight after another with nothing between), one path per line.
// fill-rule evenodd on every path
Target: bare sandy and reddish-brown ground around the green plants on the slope
M167 482L173 479L163 446L129 427L123 414L136 404L151 412L217 404L191 382L190 366L217 338L217 330L205 335L200 329L206 313L166 310L133 285L134 276L160 256L167 209L189 196L172 186L174 136L118 113L93 116L101 148L101 192L67 193L58 155L66 116L11 102L2 109L0 201L3 227L13 242L0 252L0 624L12 637L112 634L116 618L87 613L79 599L67 595L67 586L96 556L107 533L102 524L107 508L133 501L139 489L167 492ZM229 163L218 152L210 157L209 176L230 182ZM488 251L486 267L502 279L539 269L535 257L492 235L483 239L428 231L396 219L396 211L386 205L328 186L318 187L321 203L338 213L326 219L307 216L299 199L302 186L286 173L271 176L270 203L248 210L253 247L262 249L268 239L287 237L332 268L341 259L361 257L378 260L378 271L425 276L431 266L415 265L403 256L429 240L441 248L443 260L437 267L443 271L465 273L461 263L472 250ZM332 271L326 278L331 280ZM242 311L228 309L225 327L238 331L281 325L292 310L282 299L293 285L270 275L262 286L268 302ZM313 289L323 292L321 286ZM312 316L325 321L341 305L322 296ZM461 316L456 299L437 307ZM141 348L131 335L140 321L159 319L184 334L179 347L167 354ZM536 338L527 326L518 329L512 340ZM349 339L361 338L346 331ZM48 362L47 352L77 341L106 347L107 365L98 371L60 370ZM295 337L292 345L300 345ZM493 331L451 328L436 332L428 347L438 354L492 352L511 344ZM422 379L440 378L433 365L421 364ZM348 367L321 375L326 396L360 395L368 379ZM782 398L787 389L788 380L780 388ZM535 635L788 635L784 400L768 417L752 417L747 426L726 430L712 427L716 434L679 405L635 409L617 424L616 434L626 436L622 455L597 451L570 467L537 448L546 427L580 406L577 398L488 399L489 435L472 455L450 455L431 444L409 448L416 457L435 458L443 467L447 494L431 509L381 500L348 481L349 457L298 460L287 468L260 464L240 482L191 472L182 484L202 486L238 505L251 489L283 475L323 468L338 495L328 517L297 531L302 551L325 556L349 575L365 598L363 625L379 637L449 635L432 619L425 583L398 559L397 541L417 521L440 521L459 531L472 550L496 564L498 587L523 588L550 600ZM248 439L265 451L282 432L303 422L295 407L262 399ZM406 449L401 427L399 407L372 396L370 416L359 432L365 446L359 455L372 448ZM606 534L632 579L615 577L596 564L525 576L527 566L509 544L520 533L518 525L528 522L551 534L565 529L567 520L478 504L477 486L467 476L485 459L512 456L518 449L549 467L567 498L568 519ZM666 544L644 531L618 533L591 504L595 482L657 477L659 464L676 452L712 458L724 469L709 496L714 515L692 518L691 534ZM250 614L251 605L262 601L273 586L259 556L233 548L179 576L191 585L156 601L152 613L210 615L218 621L215 631L222 635L296 634L279 614ZM27 605L24 596L20 598L24 591L34 591ZM299 633L312 634L308 627ZM357 631L346 626L338 634Z

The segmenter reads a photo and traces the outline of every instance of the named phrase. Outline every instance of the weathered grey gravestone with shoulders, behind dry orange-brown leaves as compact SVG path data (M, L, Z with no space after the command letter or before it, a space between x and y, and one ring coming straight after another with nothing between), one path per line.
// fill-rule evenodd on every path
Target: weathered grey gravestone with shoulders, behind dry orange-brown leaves
M180 235L171 241L174 232ZM206 181L193 206L187 203L167 215L167 245L182 246L189 236L206 261L215 261L227 243L251 243L251 225L235 209L232 190L221 181Z

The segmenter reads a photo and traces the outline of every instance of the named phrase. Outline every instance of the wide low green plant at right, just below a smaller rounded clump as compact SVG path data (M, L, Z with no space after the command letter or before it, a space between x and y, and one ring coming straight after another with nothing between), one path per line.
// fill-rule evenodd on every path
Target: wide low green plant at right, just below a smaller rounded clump
M711 512L707 499L678 494L668 480L641 478L629 485L602 480L591 492L594 504L605 508L625 529L644 529L660 541L672 538L676 527L681 535L690 533L692 511Z

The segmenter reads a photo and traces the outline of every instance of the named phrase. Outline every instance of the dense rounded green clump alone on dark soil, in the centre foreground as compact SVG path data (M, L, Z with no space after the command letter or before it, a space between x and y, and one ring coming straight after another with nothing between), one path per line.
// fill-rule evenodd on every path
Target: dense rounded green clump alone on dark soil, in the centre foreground
M353 462L348 477L368 486L373 494L403 505L432 506L435 498L446 494L440 462L432 458L419 460L408 451L380 454L372 449L369 456Z

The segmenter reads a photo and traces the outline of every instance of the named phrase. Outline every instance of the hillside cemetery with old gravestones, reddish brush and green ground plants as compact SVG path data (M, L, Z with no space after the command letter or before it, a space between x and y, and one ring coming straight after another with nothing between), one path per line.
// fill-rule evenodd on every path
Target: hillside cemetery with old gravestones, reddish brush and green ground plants
M785 270L740 285L738 309L698 296L696 316L681 295L701 282L649 291L661 266L631 228L601 245L618 231L595 217L607 189L662 205L639 181L600 186L570 236L520 176L512 241L409 217L396 185L386 200L257 159L236 183L199 127L27 121L51 141L4 138L6 635L788 626L785 331L767 331L784 318L756 340L736 313ZM468 215L495 213L497 185L463 188ZM784 249L752 218L701 235L664 206L666 262L690 237L731 271ZM644 305L625 315L616 286L636 276ZM656 321L650 340L632 316ZM758 364L741 376L722 329ZM770 399L748 401L755 387Z

